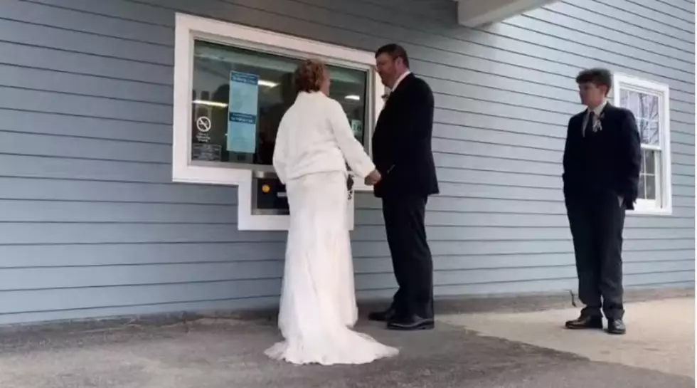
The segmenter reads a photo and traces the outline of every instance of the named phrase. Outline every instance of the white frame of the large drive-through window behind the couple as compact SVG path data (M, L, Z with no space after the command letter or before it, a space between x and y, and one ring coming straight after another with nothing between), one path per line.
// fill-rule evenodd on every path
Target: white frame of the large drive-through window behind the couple
M193 87L193 46L200 39L235 47L288 55L302 53L308 57L322 58L327 63L346 63L358 66L372 73L372 112L370 123L363 126L364 138L371 147L371 136L379 112L383 108L382 95L385 88L379 82L375 71L375 57L372 52L360 51L289 36L282 33L262 30L235 23L207 19L187 14L176 14L174 28L174 107L172 138L172 180L193 184L221 184L238 187L238 229L240 230L287 230L289 216L252 214L252 170L235 166L201 166L191 164L191 104ZM368 125L370 124L370 125ZM355 191L372 191L356 179ZM353 229L353 201L349 213Z

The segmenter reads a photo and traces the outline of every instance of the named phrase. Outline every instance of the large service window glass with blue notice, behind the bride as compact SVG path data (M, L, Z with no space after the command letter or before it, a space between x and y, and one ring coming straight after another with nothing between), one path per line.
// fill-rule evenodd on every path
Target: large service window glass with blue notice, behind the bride
M296 97L292 75L300 61L196 41L191 160L272 164L278 125ZM330 97L341 103L362 143L368 73L327 67Z

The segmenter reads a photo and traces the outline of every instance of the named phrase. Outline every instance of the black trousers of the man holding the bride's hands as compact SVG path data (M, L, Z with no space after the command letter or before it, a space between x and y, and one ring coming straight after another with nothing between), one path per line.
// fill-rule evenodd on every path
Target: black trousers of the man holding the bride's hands
M433 318L433 261L424 225L426 197L383 198L383 217L399 290L392 307L399 315Z

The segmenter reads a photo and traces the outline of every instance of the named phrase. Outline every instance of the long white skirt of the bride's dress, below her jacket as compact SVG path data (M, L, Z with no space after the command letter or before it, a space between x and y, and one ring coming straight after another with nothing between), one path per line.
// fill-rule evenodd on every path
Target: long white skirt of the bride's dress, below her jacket
M292 214L278 326L266 354L294 364L364 364L398 354L355 332L358 309L346 227L346 174L309 174L287 184Z

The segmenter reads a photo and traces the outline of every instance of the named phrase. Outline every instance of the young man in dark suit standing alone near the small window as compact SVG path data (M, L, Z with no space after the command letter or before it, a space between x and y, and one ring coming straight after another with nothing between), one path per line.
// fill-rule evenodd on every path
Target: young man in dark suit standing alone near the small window
M571 117L564 149L564 198L573 236L578 295L585 308L570 329L624 334L622 229L634 209L642 163L632 112L607 103L612 73L583 70L576 78L587 109ZM601 312L602 310L602 312Z

